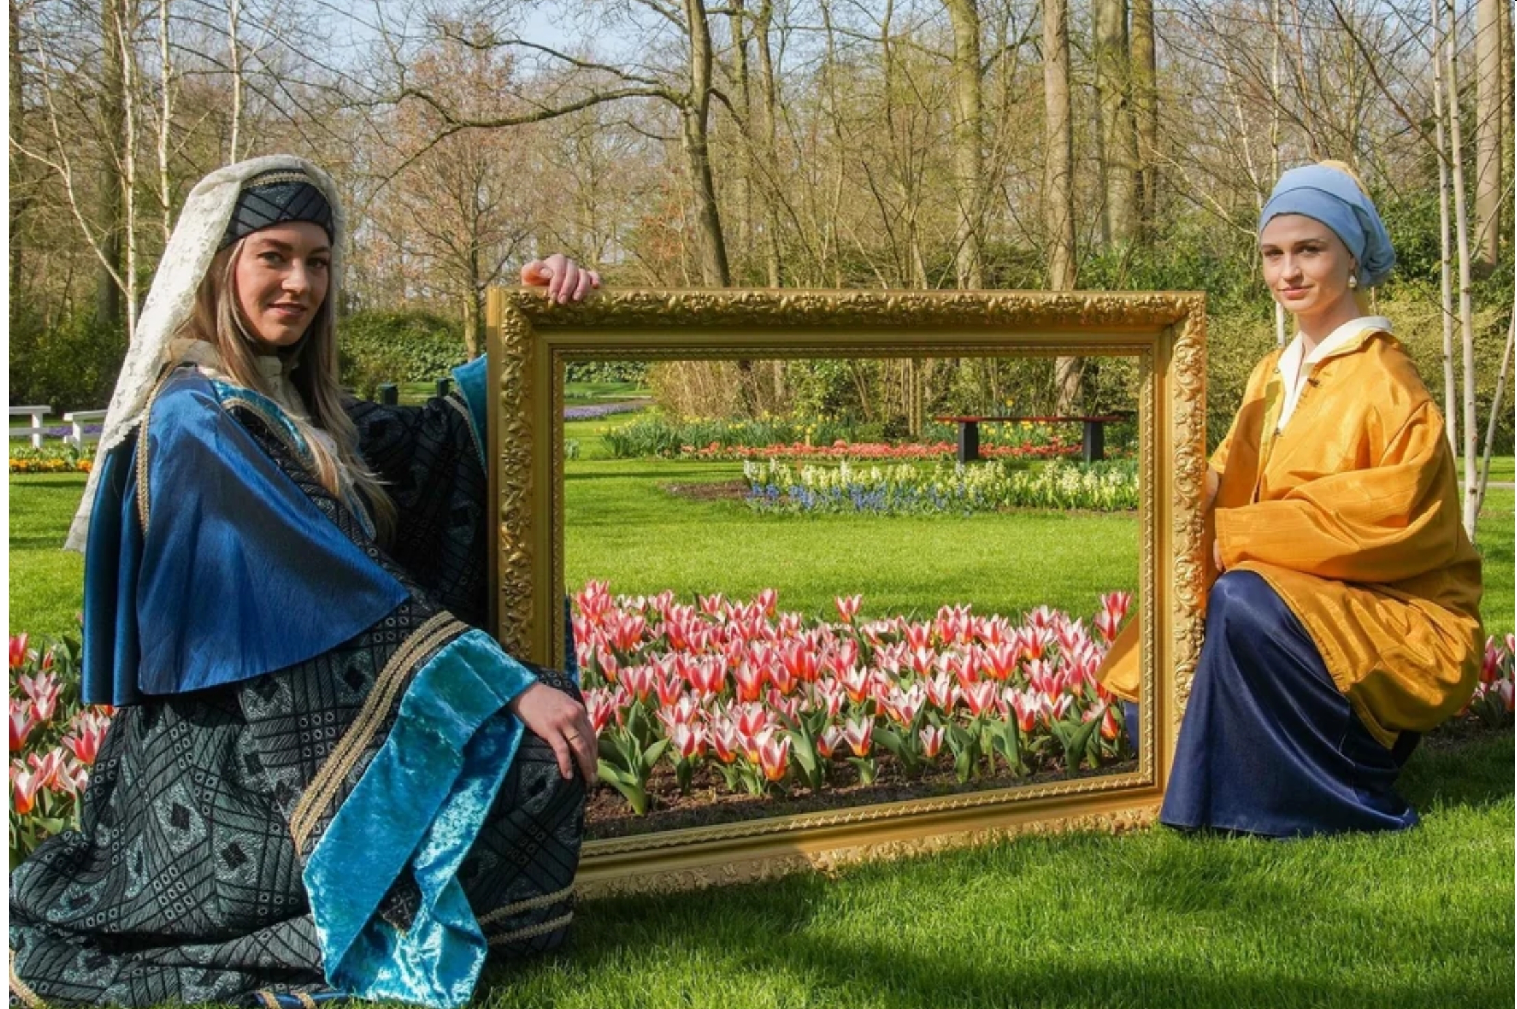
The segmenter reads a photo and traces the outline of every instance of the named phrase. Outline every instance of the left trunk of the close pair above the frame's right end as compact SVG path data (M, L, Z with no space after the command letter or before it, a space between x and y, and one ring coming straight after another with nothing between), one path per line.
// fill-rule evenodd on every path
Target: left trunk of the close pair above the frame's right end
M1126 246L1138 234L1138 141L1127 88L1127 0L1095 3L1097 159L1101 171L1101 240Z

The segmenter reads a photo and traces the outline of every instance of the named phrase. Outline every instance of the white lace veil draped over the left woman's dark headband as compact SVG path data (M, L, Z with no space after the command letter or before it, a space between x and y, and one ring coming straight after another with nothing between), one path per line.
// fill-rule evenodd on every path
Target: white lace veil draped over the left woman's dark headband
M194 311L196 291L200 290L200 279L211 267L226 235L226 225L237 206L237 194L249 179L275 170L299 170L311 179L311 184L322 190L326 202L332 206L332 272L328 297L337 297L341 285L343 270L343 237L346 234L341 203L337 199L337 187L332 179L303 158L288 155L273 155L269 158L252 158L235 165L217 168L196 184L185 200L185 208L174 225L174 234L168 238L164 256L158 262L158 273L153 276L153 287L143 303L143 314L137 320L137 332L132 344L126 349L126 361L121 363L121 375L115 381L115 393L111 396L111 407L105 416L105 428L100 431L100 446L96 449L96 466L90 470L90 481L85 484L83 501L74 513L74 520L68 527L68 539L64 549L83 551L90 531L90 513L94 508L96 482L100 476L102 463L106 454L121 445L126 437L143 422L147 408L147 398L153 391L158 373L165 364L164 350L181 326Z

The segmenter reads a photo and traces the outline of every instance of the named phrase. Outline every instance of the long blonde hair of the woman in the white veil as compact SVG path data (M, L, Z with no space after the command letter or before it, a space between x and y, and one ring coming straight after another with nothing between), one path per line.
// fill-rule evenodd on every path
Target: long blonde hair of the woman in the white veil
M237 258L246 238L221 249L211 259L200 287L196 291L194 311L179 331L181 337L203 340L215 347L226 375L256 393L278 399L258 370L256 337L253 337L237 306ZM311 451L311 470L317 481L341 499L341 470L369 505L379 540L388 542L394 534L394 501L385 493L379 478L358 455L358 429L343 410L343 390L337 384L337 291L328 290L326 299L311 320L311 328L302 337L296 355L299 367L290 372L290 384L300 393L308 417L287 411L306 448ZM325 431L337 448L337 458L328 443L316 435ZM340 463L340 464L338 464Z

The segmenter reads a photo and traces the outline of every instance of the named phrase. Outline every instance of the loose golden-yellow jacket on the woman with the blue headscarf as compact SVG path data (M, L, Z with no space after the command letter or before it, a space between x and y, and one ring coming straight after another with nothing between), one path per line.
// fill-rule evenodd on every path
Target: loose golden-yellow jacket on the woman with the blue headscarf
M1282 432L1279 360L1276 350L1255 367L1212 454L1208 567L1215 536L1223 566L1270 583L1359 721L1393 747L1455 715L1481 669L1481 558L1461 522L1443 417L1400 343L1365 329L1303 366ZM1135 631L1132 621L1098 674L1130 701Z

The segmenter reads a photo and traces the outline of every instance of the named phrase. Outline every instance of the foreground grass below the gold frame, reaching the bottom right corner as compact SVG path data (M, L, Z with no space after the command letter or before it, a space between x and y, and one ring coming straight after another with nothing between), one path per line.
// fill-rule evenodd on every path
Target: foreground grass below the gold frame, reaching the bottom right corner
M1509 1004L1512 737L1417 754L1418 830L1018 839L827 879L581 904L485 1004Z

